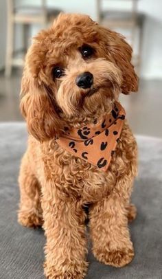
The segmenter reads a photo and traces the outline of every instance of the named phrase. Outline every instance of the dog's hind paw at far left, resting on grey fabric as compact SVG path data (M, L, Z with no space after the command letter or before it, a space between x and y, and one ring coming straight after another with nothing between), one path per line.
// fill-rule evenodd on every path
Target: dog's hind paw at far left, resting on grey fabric
M18 222L24 227L39 227L43 225L43 219L36 212L19 211Z

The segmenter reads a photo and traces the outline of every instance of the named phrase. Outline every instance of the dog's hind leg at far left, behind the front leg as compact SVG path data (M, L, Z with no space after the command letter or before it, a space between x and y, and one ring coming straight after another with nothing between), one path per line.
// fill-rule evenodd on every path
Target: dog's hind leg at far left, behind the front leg
M43 224L40 205L40 185L33 175L27 155L24 155L19 175L21 201L18 221L25 227L38 227Z

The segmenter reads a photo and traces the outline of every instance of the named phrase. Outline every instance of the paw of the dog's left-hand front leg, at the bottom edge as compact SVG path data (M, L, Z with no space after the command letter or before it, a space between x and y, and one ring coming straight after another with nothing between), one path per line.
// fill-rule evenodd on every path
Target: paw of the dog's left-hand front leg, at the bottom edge
M73 266L62 267L56 270L56 267L48 267L47 263L44 264L45 277L47 279L84 279L88 263L84 263L83 267Z

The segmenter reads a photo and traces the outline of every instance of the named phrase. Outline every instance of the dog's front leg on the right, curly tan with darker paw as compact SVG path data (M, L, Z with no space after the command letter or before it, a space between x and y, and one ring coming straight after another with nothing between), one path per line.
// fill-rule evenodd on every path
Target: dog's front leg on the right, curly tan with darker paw
M113 193L90 210L93 254L106 265L123 267L134 256L128 230L127 205L125 199Z

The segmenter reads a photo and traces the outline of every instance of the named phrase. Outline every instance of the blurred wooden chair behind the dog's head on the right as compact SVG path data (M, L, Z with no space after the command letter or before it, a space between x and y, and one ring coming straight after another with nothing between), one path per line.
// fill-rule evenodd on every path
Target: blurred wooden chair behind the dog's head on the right
M123 28L126 30L130 30L130 36L127 36L127 39L132 46L132 49L135 49L135 43L137 38L137 30L138 30L138 51L137 55L133 55L132 62L137 67L137 71L140 72L141 65L141 50L142 50L142 39L143 39L143 22L145 19L144 14L141 14L137 10L137 2L138 0L121 0L122 2L130 3L130 10L103 10L102 2L103 0L97 1L97 20L101 25L108 27L112 30L117 28ZM113 0L107 0L107 2L111 2ZM119 2L119 1L118 1ZM115 1L113 1L113 4Z

